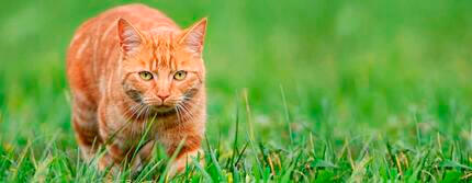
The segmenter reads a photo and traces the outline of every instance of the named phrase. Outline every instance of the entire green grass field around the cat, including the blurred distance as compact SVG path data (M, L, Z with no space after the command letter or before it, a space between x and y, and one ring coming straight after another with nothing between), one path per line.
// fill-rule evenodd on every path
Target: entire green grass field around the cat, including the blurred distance
M205 165L135 182L472 182L472 2L142 1L209 16ZM2 2L0 182L100 182L79 159L65 52L122 1ZM131 179L130 171L113 178Z

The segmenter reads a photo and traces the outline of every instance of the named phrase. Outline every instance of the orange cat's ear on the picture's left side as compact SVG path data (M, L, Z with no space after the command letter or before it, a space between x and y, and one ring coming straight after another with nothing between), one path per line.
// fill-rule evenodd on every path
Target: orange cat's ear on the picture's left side
M124 19L117 21L117 35L121 50L125 55L131 55L139 50L143 37L139 31Z

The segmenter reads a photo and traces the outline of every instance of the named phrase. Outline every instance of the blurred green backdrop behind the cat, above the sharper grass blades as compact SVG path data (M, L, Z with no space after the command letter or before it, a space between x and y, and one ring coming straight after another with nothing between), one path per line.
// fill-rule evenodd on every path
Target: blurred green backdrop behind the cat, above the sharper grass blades
M3 146L55 139L59 149L77 148L65 52L80 23L126 2L2 2ZM441 137L472 150L472 1L136 2L182 27L209 18L212 142L233 139L238 108L241 122L254 122L257 141L282 149L312 135L335 149L347 138L414 147ZM246 133L243 123L239 136Z

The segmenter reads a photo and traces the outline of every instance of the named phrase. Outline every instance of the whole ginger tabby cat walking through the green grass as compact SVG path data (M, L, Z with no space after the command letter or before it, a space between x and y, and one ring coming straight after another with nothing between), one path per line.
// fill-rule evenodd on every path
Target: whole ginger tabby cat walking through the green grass
M182 141L173 174L202 157L205 32L206 19L181 30L143 4L110 9L78 28L67 53L67 77L71 123L86 160L105 146L100 170L130 162L138 171L155 142L171 156ZM141 139L147 144L137 149Z

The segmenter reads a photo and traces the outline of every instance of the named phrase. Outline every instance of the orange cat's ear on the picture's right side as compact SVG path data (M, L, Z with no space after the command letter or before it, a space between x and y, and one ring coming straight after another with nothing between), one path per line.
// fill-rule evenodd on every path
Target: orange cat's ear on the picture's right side
M203 42L206 33L206 18L193 24L190 28L186 30L180 44L186 46L190 52L201 56L203 52Z

